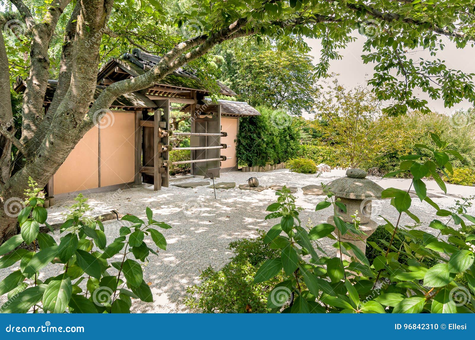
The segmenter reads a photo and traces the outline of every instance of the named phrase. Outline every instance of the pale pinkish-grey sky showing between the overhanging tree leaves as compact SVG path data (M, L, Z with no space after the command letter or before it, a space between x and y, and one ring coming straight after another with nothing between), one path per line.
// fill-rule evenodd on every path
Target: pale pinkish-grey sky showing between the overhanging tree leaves
M358 34L356 32L356 34ZM363 43L366 40L366 37L358 35L358 40L350 43L346 49L339 50L340 54L343 56L341 60L333 60L330 63L329 72L340 74L338 76L339 82L345 87L355 87L357 85L366 85L366 80L371 79L373 74L374 64L363 64L361 60L361 55L363 54ZM307 44L312 48L310 55L314 57L314 64L318 63L320 59L320 49L322 48L320 40L317 39L306 39ZM411 54L413 59L418 59L419 57L430 58L430 55L425 51L413 52ZM437 57L446 61L448 68L460 69L466 73L475 73L475 48L471 46L466 46L464 49L457 49L455 44L450 41L445 42L445 48L443 51L437 53ZM475 79L474 79L475 81ZM452 108L445 108L444 101L432 100L428 97L427 94L422 91L418 94L419 98L426 99L428 101L428 107L439 113L450 114L454 110L458 109L468 109L471 107L468 101L462 101L456 104ZM305 118L313 118L310 115L305 115Z

